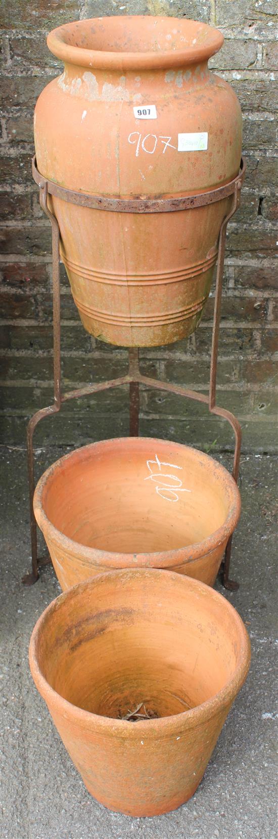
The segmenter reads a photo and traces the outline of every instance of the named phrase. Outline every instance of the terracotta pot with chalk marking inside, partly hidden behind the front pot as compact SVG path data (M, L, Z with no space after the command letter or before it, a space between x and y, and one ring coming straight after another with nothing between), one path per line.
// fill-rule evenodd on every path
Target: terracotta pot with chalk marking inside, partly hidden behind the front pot
M212 586L240 496L224 466L203 452L125 437L61 457L41 477L33 508L63 589L142 565Z

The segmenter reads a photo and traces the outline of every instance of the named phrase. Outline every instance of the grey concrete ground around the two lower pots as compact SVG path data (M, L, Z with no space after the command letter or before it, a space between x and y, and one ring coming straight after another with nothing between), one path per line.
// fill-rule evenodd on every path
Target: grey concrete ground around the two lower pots
M64 450L66 451L66 450ZM61 449L37 451L38 477ZM3 827L2 839L275 839L275 461L243 456L243 512L234 537L228 597L250 633L250 675L193 799L167 816L114 814L87 793L28 670L28 641L59 594L51 565L35 586L29 565L26 452L2 451ZM225 458L229 462L229 457Z

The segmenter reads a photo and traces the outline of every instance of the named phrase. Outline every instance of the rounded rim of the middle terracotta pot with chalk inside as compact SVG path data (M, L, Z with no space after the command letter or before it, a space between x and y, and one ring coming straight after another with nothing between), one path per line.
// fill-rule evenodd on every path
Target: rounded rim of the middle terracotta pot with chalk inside
M54 472L59 469L60 466L64 466L64 464L69 460L74 461L75 459L78 459L80 461L80 459L86 459L90 454L90 451L94 452L95 447L97 447L97 449L109 450L111 448L113 450L115 446L117 448L124 446L125 449L126 447L129 447L132 451L133 446L142 446L142 448L144 448L148 443L152 446L155 446L157 443L159 446L173 446L178 450L182 449L183 451L187 450L193 452L194 456L198 456L198 459L203 463L207 463L210 468L213 465L214 472L217 472L219 476L224 479L230 498L229 513L224 521L224 524L222 524L219 529L215 530L213 534L210 534L206 539L203 539L202 542L196 542L193 545L187 545L186 547L175 548L172 550L153 551L150 553L142 552L131 554L100 550L98 548L89 548L74 539L69 539L68 536L61 533L61 531L59 531L54 524L50 522L44 512L44 488L46 487L49 478L54 475ZM100 566L100 570L101 568L105 570L107 563L111 569L118 568L120 563L122 566L123 561L127 567L132 567L135 563L138 563L141 567L158 566L159 568L176 568L178 565L185 565L194 562L199 558L212 553L212 551L224 543L225 540L227 541L229 539L229 536L234 532L234 528L239 521L240 506L239 488L237 487L233 476L227 469L225 469L224 466L222 466L221 463L219 463L219 461L215 461L214 458L205 454L203 451L194 449L193 446L183 446L182 443L175 443L169 440L157 440L157 438L153 437L115 437L110 440L100 440L95 443L90 443L88 446L81 446L74 451L70 451L68 455L60 457L58 461L55 461L55 463L49 466L49 469L47 469L42 477L40 477L33 495L33 510L35 518L37 519L40 529L43 530L46 539L49 538L54 540L56 544L59 544L59 548L64 551L64 554L70 557L76 556L76 549L78 545L80 560L87 565L91 565L92 562L97 561Z

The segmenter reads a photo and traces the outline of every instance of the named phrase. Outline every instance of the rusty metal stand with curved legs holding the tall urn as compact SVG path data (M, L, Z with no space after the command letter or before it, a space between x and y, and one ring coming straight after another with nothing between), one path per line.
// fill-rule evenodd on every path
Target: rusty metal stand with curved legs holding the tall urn
M219 187L216 190L210 190L200 195L183 196L181 198L173 199L135 199L125 200L116 198L102 198L99 195L85 195L73 190L66 190L54 183L51 180L45 180L36 166L35 158L32 161L33 178L39 185L39 202L44 210L52 227L52 257L53 257L53 326L54 326L54 404L49 408L43 408L33 414L33 417L28 423L27 429L27 450L28 450L28 484L29 484L29 504L30 504L30 528L31 528L31 550L32 550L32 571L23 577L25 585L32 585L39 578L39 565L45 565L49 562L49 558L38 558L38 540L37 540L37 523L33 514L33 493L34 493L34 464L33 464L33 432L44 417L51 414L57 414L64 402L69 399L79 399L81 396L88 396L90 393L98 393L100 390L108 390L109 388L119 387L121 384L129 384L130 392L130 435L137 436L139 432L139 384L147 385L150 388L157 388L158 390L166 390L170 393L177 393L179 396L187 397L187 399L194 399L198 402L207 404L211 414L217 414L228 420L229 425L234 430L234 467L233 477L234 481L238 482L239 478L239 456L241 445L241 428L239 420L234 414L224 408L219 408L216 404L216 374L218 362L218 347L219 347L219 321L221 310L221 297L223 285L223 270L224 270L224 252L226 242L226 230L228 221L239 206L240 189L245 177L245 163L241 160L239 175L230 181L229 184ZM126 376L111 379L107 382L100 382L97 384L89 384L85 388L78 388L76 390L63 393L61 391L61 364L60 364L60 279L59 279L59 224L53 213L49 210L48 195L56 195L64 201L69 201L80 206L86 206L99 210L109 210L116 212L172 212L177 210L193 209L197 206L205 206L213 204L215 201L224 201L229 196L233 196L232 206L227 216L222 222L219 232L219 254L216 274L216 288L215 288L215 303L214 303L214 326L211 346L211 362L210 362L210 379L209 379L209 396L204 396L203 393L198 393L194 390L188 390L179 385L170 384L168 382L161 382L156 378L149 378L142 376L139 369L138 349L129 349L129 370ZM224 561L222 564L223 570L223 584L229 591L235 591L239 587L239 583L229 579L229 560L231 554L232 536L226 547Z

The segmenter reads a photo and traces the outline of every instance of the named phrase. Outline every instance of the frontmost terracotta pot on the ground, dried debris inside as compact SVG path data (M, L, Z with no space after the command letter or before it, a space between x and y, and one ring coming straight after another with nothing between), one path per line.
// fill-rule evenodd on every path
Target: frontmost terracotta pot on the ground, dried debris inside
M203 778L248 673L250 642L209 586L132 569L54 600L33 629L29 661L91 795L111 810L156 816ZM135 711L143 718L122 719Z

